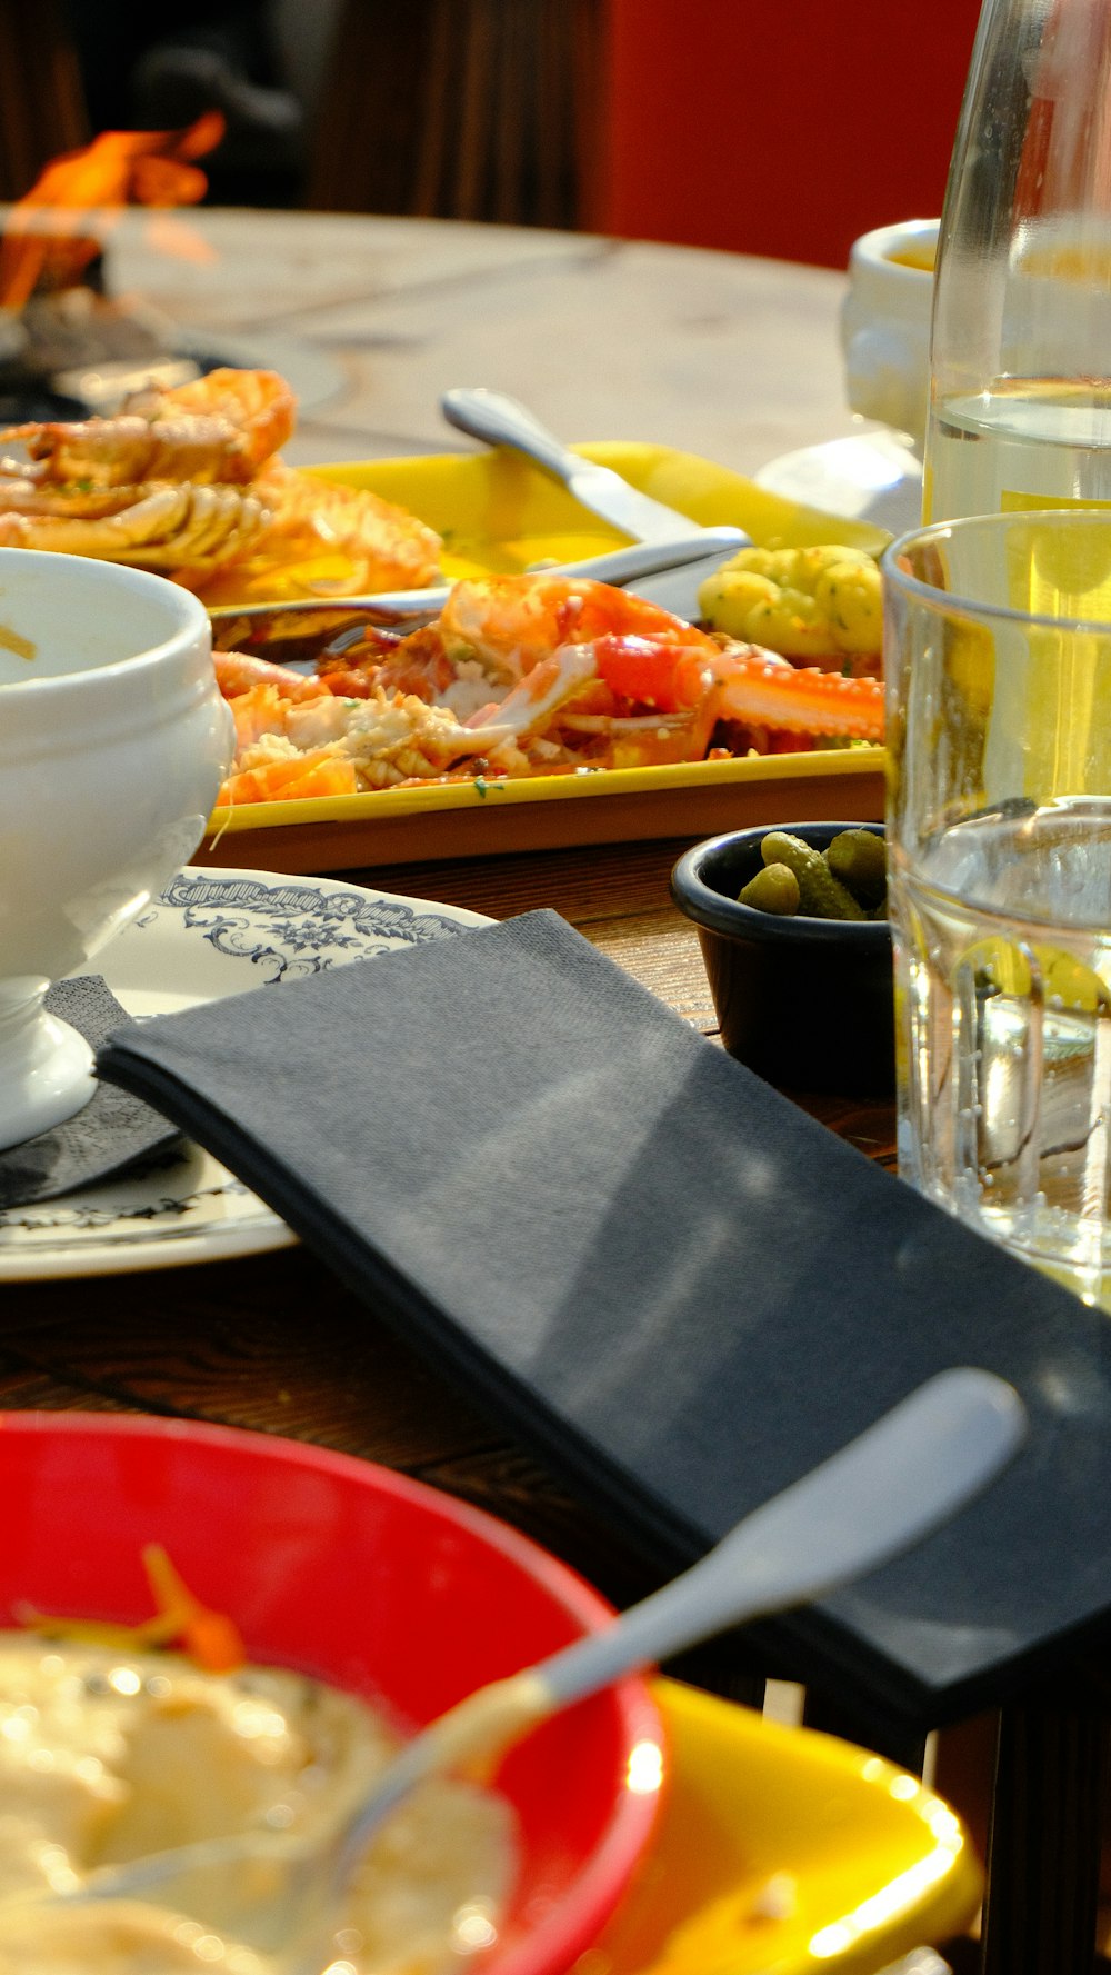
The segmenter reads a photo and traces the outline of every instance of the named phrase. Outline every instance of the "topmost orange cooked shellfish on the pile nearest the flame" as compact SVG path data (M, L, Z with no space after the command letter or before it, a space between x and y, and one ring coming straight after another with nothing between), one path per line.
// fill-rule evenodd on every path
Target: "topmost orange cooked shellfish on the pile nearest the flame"
M245 484L294 429L296 399L276 371L215 369L172 391L140 391L112 419L12 425L32 478L91 488L140 480Z

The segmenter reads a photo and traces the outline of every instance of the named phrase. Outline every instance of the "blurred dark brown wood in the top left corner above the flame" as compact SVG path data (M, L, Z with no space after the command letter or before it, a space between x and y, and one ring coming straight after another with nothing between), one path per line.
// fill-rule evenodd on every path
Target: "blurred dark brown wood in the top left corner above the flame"
M61 0L0 0L0 199L20 199L43 164L89 136Z

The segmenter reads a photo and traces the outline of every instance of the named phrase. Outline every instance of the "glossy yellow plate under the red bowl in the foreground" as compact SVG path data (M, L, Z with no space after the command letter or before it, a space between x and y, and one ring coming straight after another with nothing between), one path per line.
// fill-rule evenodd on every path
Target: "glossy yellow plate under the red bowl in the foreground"
M677 1681L653 1691L659 1837L574 1975L874 1975L969 1924L981 1868L916 1778Z

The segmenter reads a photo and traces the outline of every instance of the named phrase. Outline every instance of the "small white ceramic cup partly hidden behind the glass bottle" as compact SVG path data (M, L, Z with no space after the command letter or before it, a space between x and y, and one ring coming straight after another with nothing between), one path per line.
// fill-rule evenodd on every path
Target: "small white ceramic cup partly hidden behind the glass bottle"
M937 227L937 219L904 219L852 241L841 308L851 411L906 433L918 450L929 409Z

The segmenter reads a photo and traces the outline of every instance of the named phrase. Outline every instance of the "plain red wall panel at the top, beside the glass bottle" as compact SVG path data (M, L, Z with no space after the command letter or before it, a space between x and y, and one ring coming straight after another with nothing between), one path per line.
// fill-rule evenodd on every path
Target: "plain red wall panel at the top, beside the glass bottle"
M979 0L606 0L604 233L845 267L941 209Z

